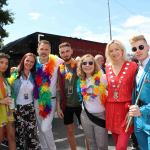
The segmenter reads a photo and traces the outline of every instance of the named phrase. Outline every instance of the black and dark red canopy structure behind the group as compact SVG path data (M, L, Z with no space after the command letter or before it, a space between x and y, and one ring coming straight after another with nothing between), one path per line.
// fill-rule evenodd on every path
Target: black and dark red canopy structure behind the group
M16 41L10 42L2 47L1 52L7 53L11 57L11 65L16 66L22 56L27 52L37 54L39 40L48 40L51 43L51 53L59 55L58 47L61 42L69 42L74 50L73 57L90 53L104 55L106 43L98 43L72 37L65 37L41 32L35 32Z

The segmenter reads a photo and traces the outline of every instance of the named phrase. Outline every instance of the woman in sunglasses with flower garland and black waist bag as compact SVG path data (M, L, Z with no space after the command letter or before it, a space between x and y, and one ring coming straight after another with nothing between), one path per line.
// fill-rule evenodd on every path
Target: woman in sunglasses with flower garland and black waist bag
M106 81L92 55L84 55L77 67L78 93L82 102L81 123L92 150L107 150L105 128Z

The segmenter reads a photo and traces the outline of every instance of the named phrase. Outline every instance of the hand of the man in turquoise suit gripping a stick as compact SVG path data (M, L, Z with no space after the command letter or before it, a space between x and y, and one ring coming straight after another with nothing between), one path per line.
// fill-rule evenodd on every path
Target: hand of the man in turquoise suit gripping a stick
M141 116L140 108L138 105L131 105L129 108L129 116L139 117Z

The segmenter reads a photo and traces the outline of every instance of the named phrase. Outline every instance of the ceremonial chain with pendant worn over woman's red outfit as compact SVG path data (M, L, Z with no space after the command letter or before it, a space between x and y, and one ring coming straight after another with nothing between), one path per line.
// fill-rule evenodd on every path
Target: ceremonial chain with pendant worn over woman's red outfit
M118 83L115 82L115 74L113 73L112 70L112 66L109 66L109 74L110 74L110 79L111 79L111 85L113 88L113 97L115 100L117 100L119 98L119 89L120 89L120 85L122 83L123 78L126 75L126 72L129 68L130 63L129 62L125 62L125 66L123 68L122 74L120 75L120 78L118 79Z

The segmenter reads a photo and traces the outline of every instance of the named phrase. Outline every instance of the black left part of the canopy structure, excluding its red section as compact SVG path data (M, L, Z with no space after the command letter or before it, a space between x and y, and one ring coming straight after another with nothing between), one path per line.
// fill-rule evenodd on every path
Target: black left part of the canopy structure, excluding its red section
M40 37L40 35L43 36ZM18 62L25 53L32 52L34 54L37 54L38 37L40 37L40 39L46 39L50 41L50 43L52 44L52 53L58 54L56 50L58 50L57 45L60 41L59 36L54 36L41 32L35 32L33 34L10 42L2 47L1 52L7 53L11 56L11 64L18 64Z

